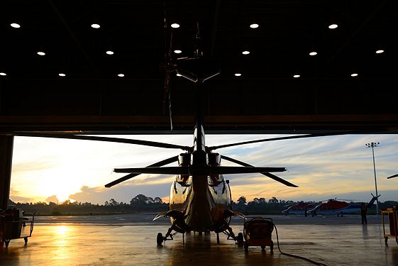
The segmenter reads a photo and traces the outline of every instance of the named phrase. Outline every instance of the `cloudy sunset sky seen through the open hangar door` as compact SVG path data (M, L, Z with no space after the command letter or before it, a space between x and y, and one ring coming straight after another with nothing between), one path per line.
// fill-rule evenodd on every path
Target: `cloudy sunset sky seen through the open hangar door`
M111 136L111 135L109 135ZM210 135L206 145L222 145L275 138L281 135ZM116 138L153 140L193 145L193 135L112 135ZM274 173L299 187L287 187L262 174L227 174L233 200L245 196L292 201L346 199L370 201L375 194L372 148L365 143L380 142L375 151L379 201L398 201L398 135L336 135L221 148L215 152L258 167L286 167ZM107 143L93 140L15 137L10 198L15 202L55 202L66 199L104 204L115 199L129 203L138 194L169 201L174 176L140 174L106 188L123 173L118 167L145 167L183 153L178 149ZM170 166L177 166L177 162ZM221 165L234 165L221 161Z

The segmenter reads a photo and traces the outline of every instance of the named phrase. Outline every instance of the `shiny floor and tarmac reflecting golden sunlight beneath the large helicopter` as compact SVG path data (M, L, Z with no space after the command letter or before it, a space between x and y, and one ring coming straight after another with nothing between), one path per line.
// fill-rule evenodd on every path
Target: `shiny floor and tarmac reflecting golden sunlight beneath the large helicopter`
M272 218L274 249L243 245L215 233L165 235L167 218L155 214L35 217L31 236L11 239L1 266L17 265L397 265L398 243L381 216L262 216ZM253 217L253 216L250 216ZM249 217L249 218L250 218ZM243 232L233 218L234 233ZM385 229L385 233L383 231Z

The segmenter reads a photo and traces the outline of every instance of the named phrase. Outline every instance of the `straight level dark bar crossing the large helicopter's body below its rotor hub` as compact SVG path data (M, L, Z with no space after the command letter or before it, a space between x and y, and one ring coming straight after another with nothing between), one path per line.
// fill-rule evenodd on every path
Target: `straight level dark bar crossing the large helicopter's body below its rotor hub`
M143 174L250 174L255 172L284 172L284 167L234 167L234 166L178 166L178 167L144 167L144 168L115 168L114 172L143 173Z

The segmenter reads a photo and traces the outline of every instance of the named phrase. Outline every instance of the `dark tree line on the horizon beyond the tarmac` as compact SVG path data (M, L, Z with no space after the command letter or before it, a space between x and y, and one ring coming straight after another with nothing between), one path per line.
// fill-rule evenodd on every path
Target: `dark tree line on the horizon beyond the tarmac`
M241 211L243 214L281 214L281 211L286 209L287 206L299 202L279 200L275 196L268 200L265 198L254 198L253 201L247 201L245 196L241 196L237 201L232 201L232 209ZM351 202L350 204L360 203ZM379 202L379 209L387 209L397 205L398 201ZM153 199L150 196L138 194L129 203L118 202L115 199L105 201L102 205L89 202L71 202L70 200L64 201L62 204L55 204L54 202L14 203L9 201L9 208L21 209L25 211L25 214L35 214L35 216L103 215L167 211L168 204L163 202L160 197ZM375 214L375 212L376 205L373 204L368 214Z

